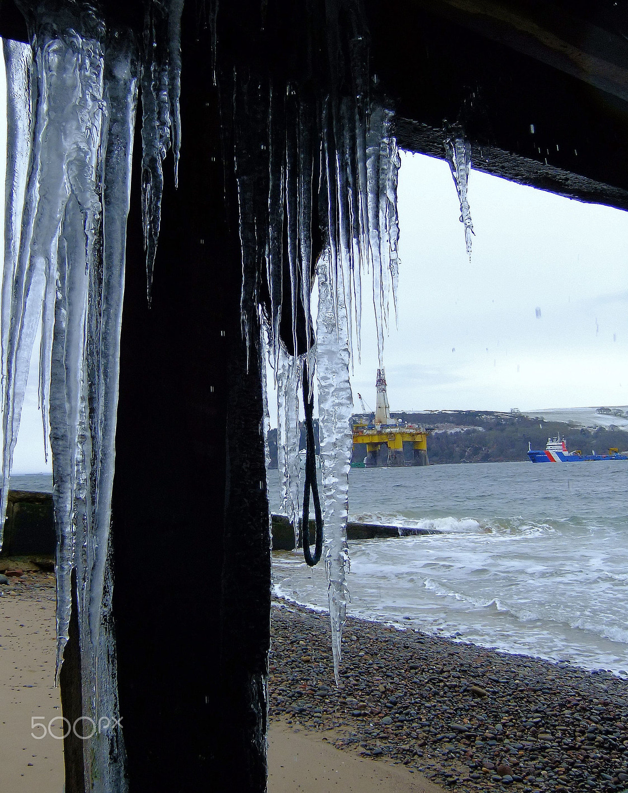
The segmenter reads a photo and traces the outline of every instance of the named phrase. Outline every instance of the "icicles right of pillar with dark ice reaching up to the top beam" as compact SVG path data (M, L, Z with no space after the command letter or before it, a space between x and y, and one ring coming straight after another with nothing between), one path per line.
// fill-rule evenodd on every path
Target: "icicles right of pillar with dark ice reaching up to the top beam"
M346 49L339 38L341 6L342 13L353 21L349 31L343 32L350 40ZM368 290L375 306L380 361L391 293L396 309L400 159L392 134L393 114L370 96L368 36L356 4L351 0L326 4L325 16L314 3L308 13L312 17L306 21L307 41L302 51L318 53L315 57L320 62L306 64L306 74L314 69L318 75L326 75L318 90L312 90L307 80L282 82L268 75L252 76L248 71L241 75L237 64L229 69L223 64L221 68L220 36L217 79L233 108L243 332L249 339L245 318L252 316L254 306L263 303L279 390L282 504L293 525L298 519L293 494L297 481L295 448L291 446L296 438L296 413L292 410L295 397L288 396L287 388L294 394L291 389L298 388L299 377L292 376L295 368L291 370L288 362L307 355L314 342L310 291L317 262L319 289L322 282L325 285L326 320L321 325L319 319L316 355L320 356L323 332L325 358L318 361L319 388L324 389L326 400L320 408L321 433L327 444L325 454L322 452L322 489L334 665L338 672L347 596L345 526L352 408L349 357L354 343L359 351L366 278L371 281ZM219 26L219 18L216 24ZM345 84L341 84L343 75ZM351 86L349 90L347 85ZM260 260L264 264L261 274ZM310 373L313 370L310 366Z

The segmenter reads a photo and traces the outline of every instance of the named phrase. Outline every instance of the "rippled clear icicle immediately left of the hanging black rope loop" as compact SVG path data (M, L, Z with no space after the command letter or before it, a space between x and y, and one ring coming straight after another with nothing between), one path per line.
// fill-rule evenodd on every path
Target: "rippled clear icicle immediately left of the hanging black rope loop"
M299 541L299 383L302 359L279 348L277 381L277 462L283 511Z

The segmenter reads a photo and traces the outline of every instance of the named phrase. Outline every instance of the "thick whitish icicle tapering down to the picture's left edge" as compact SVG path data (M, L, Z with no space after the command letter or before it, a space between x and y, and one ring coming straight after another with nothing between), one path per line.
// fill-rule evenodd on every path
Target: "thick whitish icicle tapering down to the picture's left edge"
M7 339L2 515L45 285L56 278L56 249L67 197L74 192L80 202L87 248L91 246L94 214L98 215L100 208L94 191L94 150L100 143L103 112L99 45L81 40L75 33L64 40L45 41L37 51L37 73L40 99L33 165ZM48 344L48 339L44 343Z

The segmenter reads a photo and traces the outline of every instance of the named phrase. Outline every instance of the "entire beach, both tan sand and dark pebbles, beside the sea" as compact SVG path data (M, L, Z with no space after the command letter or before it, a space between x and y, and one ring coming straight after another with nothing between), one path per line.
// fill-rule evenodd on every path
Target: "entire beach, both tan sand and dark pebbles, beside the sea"
M31 736L60 714L54 579L0 591L0 778L60 790L62 742ZM336 688L326 613L274 599L271 629L271 793L628 788L621 678L349 618Z

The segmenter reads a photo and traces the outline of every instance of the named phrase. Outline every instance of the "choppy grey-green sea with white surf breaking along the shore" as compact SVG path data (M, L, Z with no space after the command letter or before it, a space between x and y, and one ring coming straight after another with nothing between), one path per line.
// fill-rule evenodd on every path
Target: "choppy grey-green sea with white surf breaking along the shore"
M626 462L353 469L353 519L444 534L351 542L349 613L628 670L627 486ZM278 595L325 607L322 565L273 564Z

